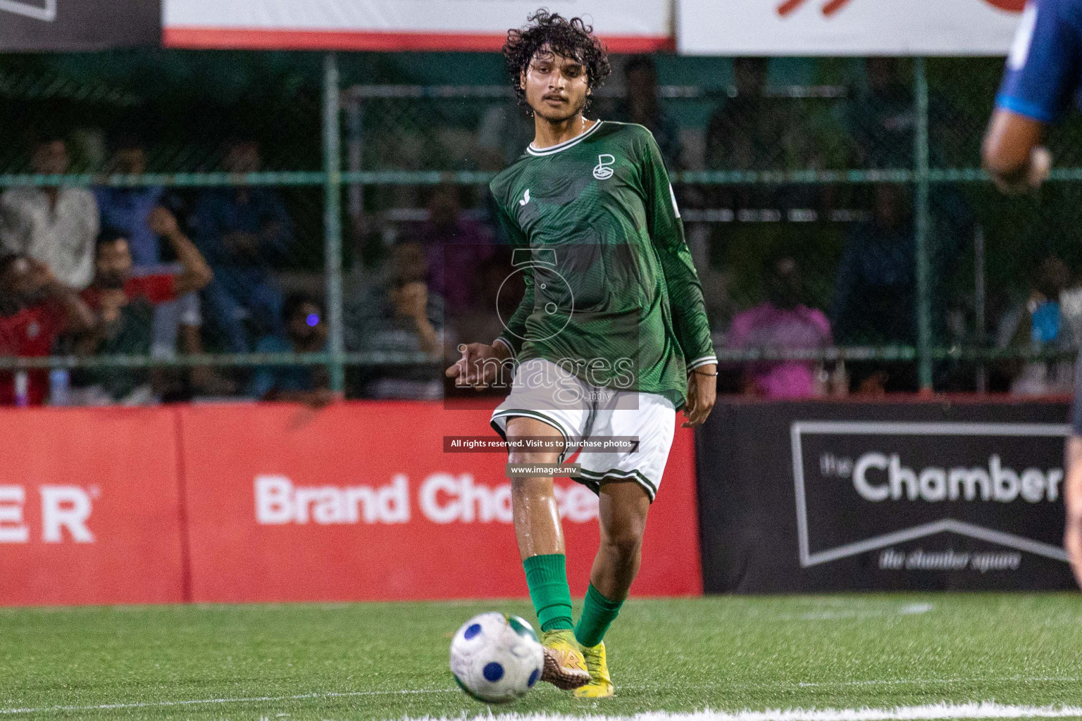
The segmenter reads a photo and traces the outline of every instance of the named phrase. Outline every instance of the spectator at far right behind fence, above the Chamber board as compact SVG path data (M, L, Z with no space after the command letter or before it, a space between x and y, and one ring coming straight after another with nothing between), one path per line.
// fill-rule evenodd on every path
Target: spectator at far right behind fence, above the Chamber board
M1060 305L1070 280L1066 263L1055 256L1044 258L1033 273L1026 298L1000 318L995 347L1039 352L1074 346L1071 323ZM1069 393L1074 387L1074 364L1069 360L1011 360L1002 363L1001 370L1011 377L1011 392L1016 396Z

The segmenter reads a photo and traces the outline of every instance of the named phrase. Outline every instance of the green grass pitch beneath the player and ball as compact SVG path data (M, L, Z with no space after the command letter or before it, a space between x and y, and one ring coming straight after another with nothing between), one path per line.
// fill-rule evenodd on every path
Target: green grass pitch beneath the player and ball
M452 632L528 602L0 610L3 719L403 719L488 707ZM607 638L618 697L540 684L492 711L1082 705L1082 596L632 600Z

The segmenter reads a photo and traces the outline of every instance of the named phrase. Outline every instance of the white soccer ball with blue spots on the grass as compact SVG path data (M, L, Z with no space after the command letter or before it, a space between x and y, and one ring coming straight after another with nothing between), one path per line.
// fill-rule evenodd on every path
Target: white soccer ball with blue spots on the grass
M544 650L518 616L474 616L451 641L451 673L467 694L488 704L522 698L541 678Z

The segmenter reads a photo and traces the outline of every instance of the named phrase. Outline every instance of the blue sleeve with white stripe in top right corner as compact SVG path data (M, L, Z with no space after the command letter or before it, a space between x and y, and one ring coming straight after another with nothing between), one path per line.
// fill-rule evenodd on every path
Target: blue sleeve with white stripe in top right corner
M1079 38L1063 0L1030 0L1022 11L995 107L1054 122L1079 84Z

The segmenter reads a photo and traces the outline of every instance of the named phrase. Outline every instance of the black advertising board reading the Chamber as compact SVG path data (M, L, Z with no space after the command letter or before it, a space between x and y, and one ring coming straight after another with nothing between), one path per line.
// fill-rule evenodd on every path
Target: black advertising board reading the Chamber
M1066 403L718 403L708 592L1067 589Z

